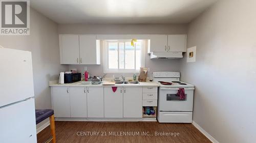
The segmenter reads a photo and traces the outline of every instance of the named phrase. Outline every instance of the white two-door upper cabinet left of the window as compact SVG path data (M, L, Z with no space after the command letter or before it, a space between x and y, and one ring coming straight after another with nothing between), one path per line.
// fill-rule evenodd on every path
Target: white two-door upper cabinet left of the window
M100 65L96 35L59 35L60 64Z

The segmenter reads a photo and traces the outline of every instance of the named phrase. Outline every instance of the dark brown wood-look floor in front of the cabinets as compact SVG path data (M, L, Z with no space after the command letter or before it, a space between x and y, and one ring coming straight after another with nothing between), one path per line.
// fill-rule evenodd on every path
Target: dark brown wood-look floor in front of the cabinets
M211 142L192 124L170 124L158 122L55 122L56 139L58 143L78 142L169 142L169 143L207 143ZM85 133L99 132L98 135ZM136 134L121 136L121 132ZM141 135L141 132L148 132ZM167 136L155 136L155 132L170 132ZM101 135L103 133L103 135ZM115 135L116 133L116 135ZM139 134L138 134L139 133ZM171 133L179 133L174 136ZM83 134L82 136L77 134ZM119 134L119 135L117 135ZM41 143L50 137L50 126L37 134L37 142Z

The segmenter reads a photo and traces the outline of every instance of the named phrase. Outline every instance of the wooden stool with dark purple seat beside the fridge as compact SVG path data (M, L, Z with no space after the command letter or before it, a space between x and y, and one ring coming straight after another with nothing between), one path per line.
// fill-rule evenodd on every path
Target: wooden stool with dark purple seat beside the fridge
M51 127L51 137L46 141L46 143L52 140L53 143L56 143L55 136L55 125L54 125L54 112L52 109L40 109L35 110L36 124L44 121L47 118L50 118L50 127Z

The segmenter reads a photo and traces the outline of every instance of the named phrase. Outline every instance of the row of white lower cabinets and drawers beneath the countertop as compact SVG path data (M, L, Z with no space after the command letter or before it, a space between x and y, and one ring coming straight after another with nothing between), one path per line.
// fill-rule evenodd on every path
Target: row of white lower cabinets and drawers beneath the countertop
M157 106L151 87L52 87L57 118L142 118L142 106ZM146 93L145 93L146 92Z

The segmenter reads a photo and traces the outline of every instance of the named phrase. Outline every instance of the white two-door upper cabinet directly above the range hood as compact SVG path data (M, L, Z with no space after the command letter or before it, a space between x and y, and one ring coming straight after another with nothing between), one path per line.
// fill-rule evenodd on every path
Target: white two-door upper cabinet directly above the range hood
M186 52L186 35L150 35L147 53Z

